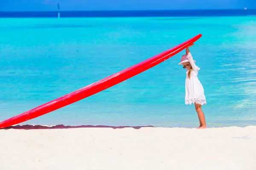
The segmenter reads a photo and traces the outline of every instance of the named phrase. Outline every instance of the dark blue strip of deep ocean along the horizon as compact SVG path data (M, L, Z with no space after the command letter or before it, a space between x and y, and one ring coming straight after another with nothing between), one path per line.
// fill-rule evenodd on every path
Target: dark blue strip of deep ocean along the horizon
M256 9L59 11L61 17L221 17L256 15ZM57 17L56 11L0 11L0 17Z

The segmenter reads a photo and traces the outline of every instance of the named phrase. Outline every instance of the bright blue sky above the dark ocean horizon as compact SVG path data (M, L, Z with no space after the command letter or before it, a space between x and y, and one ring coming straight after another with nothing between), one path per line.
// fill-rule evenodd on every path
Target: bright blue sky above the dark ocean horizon
M256 0L0 0L0 11L256 9Z

